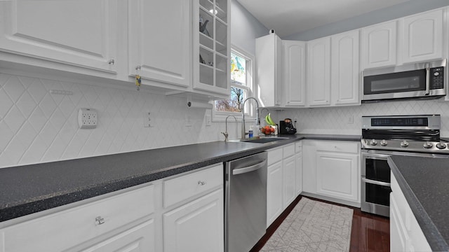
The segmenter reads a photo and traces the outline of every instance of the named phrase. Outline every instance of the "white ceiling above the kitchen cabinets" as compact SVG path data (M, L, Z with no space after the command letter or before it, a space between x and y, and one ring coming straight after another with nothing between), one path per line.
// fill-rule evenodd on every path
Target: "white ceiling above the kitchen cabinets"
M281 37L409 0L237 0Z

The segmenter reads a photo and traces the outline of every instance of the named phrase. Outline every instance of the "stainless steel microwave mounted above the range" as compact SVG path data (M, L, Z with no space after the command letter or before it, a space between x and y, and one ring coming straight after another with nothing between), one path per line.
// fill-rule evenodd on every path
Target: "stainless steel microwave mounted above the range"
M446 59L362 71L362 102L446 95Z

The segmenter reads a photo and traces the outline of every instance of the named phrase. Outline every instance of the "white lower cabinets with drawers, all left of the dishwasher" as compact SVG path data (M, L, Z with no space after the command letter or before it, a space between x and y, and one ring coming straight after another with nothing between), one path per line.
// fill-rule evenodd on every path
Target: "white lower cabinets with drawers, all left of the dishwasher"
M86 202L11 220L0 252L224 250L222 163Z

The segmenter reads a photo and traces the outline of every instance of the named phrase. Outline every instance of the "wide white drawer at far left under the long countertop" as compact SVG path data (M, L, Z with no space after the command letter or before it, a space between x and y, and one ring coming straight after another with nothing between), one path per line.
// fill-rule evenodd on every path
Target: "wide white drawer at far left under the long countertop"
M154 186L36 218L5 229L5 251L65 251L154 212ZM96 218L102 218L102 224Z

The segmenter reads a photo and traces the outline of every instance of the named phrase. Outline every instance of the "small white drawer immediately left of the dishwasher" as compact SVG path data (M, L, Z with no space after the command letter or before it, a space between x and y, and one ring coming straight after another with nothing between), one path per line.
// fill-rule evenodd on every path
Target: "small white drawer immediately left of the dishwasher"
M163 182L163 207L187 200L223 184L223 165L213 165L199 172Z

